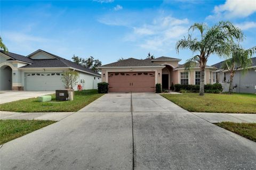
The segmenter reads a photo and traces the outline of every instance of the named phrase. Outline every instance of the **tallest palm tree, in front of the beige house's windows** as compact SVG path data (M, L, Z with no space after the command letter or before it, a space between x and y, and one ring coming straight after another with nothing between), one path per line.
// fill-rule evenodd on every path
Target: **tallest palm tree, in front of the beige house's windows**
M199 30L200 37L192 38L195 30ZM191 31L191 33L190 33ZM197 53L194 57L186 61L186 67L191 67L193 63L198 62L200 67L200 91L199 95L204 95L204 69L211 54L218 56L227 56L230 49L229 44L234 40L243 40L243 32L235 27L231 22L221 21L212 27L207 27L205 23L195 23L188 30L188 37L177 41L176 50L190 49Z

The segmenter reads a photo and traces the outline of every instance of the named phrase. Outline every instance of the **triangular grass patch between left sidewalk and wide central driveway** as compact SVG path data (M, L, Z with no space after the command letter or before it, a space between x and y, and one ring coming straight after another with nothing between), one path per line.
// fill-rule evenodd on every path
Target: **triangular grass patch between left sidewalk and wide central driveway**
M0 145L54 122L39 120L0 120Z

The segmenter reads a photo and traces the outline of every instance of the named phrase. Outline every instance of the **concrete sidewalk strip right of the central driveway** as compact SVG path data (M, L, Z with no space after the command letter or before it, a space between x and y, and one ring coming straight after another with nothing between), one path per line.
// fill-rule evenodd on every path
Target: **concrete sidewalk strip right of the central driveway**
M193 114L211 123L219 123L219 122L256 123L256 114L198 113L198 112L193 112Z

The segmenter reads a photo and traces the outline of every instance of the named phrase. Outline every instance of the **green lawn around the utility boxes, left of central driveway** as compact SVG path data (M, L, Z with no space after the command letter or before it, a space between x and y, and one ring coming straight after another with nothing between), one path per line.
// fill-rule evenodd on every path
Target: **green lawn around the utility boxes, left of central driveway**
M76 112L92 101L98 99L103 94L98 94L97 90L75 91L73 101L56 101L55 94L52 101L38 102L36 98L12 101L0 105L0 111L10 112Z

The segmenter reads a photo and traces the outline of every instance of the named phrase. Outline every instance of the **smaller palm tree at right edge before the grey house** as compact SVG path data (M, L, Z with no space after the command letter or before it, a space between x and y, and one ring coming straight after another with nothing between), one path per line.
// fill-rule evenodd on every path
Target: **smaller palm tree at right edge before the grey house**
M256 52L256 46L250 49L243 49L241 46L237 44L232 44L230 46L231 49L231 57L226 60L222 69L228 70L230 73L229 80L229 94L231 94L233 89L233 77L237 70L241 70L242 72L247 71L248 67L252 64L252 55Z

